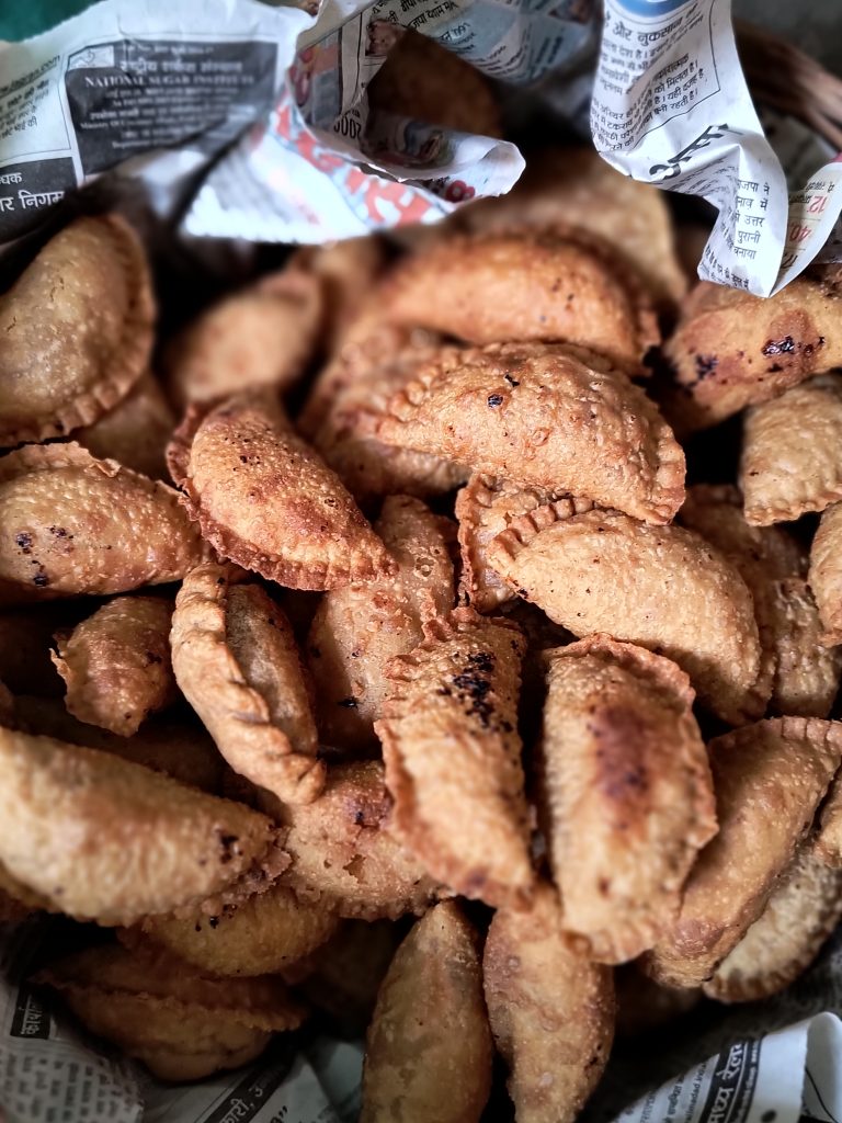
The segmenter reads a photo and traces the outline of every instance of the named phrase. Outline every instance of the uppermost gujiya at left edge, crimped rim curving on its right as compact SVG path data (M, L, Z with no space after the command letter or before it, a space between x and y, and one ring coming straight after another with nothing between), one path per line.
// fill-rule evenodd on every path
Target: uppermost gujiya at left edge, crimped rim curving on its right
M149 362L144 248L118 214L79 218L0 296L0 447L91 424Z

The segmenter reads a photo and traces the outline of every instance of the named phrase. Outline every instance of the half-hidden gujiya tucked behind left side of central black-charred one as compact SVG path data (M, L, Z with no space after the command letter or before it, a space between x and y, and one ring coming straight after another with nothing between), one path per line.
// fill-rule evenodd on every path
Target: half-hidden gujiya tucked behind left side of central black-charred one
M420 500L390 495L375 530L396 575L332 590L317 609L306 647L327 745L376 748L374 722L391 690L386 666L418 647L424 621L454 606L446 529Z

